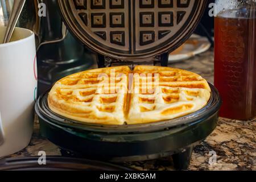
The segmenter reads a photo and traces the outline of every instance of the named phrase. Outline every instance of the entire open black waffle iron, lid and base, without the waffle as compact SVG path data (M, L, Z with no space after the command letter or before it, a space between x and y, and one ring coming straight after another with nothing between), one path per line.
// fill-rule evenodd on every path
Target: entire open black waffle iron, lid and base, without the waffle
M98 57L98 67L167 66L168 55L195 30L207 1L58 0L69 31ZM53 113L48 92L35 111L42 135L64 156L110 162L134 162L172 155L177 169L187 169L193 147L217 126L221 99L212 96L203 109L170 121L106 126L73 121Z

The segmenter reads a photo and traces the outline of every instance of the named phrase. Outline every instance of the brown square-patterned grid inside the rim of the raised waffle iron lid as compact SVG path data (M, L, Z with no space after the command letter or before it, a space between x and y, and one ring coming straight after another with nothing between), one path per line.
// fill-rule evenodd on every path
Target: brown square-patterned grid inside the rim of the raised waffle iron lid
M139 54L175 36L195 0L68 0L89 35L118 52ZM138 26L137 26L138 25ZM136 26L136 27L135 27ZM133 40L135 39L135 41Z

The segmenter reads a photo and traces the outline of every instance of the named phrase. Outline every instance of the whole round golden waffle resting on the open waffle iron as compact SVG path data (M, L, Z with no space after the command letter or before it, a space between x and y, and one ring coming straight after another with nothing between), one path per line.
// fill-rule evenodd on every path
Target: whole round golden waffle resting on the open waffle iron
M129 74L133 73L133 74ZM173 119L204 107L206 80L167 67L93 69L56 82L48 106L56 114L86 123L128 125Z

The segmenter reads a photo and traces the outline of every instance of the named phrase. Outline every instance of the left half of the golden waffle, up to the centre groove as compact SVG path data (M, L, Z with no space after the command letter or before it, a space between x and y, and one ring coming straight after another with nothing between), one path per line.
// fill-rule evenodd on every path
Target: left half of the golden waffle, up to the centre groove
M57 81L49 92L49 108L59 115L81 122L122 125L125 122L130 68L115 67L112 84L105 79L113 77L110 72L110 68L93 69Z

